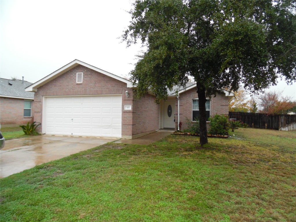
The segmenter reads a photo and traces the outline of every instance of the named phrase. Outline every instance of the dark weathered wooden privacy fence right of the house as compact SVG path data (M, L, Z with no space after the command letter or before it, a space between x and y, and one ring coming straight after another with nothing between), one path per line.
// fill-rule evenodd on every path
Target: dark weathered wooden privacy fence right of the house
M267 115L265 113L229 112L230 119L247 123L251 128L296 130L296 115Z

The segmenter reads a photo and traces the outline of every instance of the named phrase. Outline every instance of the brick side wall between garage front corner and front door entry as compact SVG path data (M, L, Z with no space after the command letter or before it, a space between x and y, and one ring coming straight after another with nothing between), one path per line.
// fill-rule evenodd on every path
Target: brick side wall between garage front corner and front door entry
M132 135L159 129L159 104L155 96L146 94L140 100L133 101Z

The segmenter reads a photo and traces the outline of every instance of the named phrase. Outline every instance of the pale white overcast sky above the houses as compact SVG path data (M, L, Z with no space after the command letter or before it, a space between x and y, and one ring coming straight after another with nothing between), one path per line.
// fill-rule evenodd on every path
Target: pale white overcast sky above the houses
M0 76L36 82L79 59L127 76L141 46L120 43L131 20L129 0L1 0ZM296 99L296 83L266 90Z

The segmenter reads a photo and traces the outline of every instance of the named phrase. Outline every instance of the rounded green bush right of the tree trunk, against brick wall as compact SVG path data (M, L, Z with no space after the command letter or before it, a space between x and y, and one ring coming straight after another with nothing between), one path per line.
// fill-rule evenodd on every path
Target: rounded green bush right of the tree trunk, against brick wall
M210 130L209 133L212 135L228 135L230 124L228 117L224 115L215 115L209 118Z

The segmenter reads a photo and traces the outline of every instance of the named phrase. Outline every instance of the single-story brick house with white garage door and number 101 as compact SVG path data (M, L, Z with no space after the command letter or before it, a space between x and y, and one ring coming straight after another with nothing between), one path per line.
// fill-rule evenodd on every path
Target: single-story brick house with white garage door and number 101
M131 81L77 59L26 91L35 92L34 120L45 134L135 139L161 128L177 129L178 109L181 121L198 113L193 83L178 97L171 92L167 101L156 104L152 94L134 99ZM213 98L209 115L228 115L231 96Z

